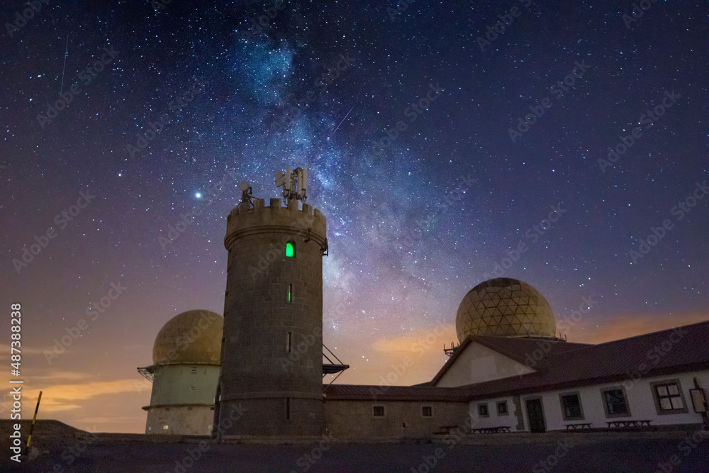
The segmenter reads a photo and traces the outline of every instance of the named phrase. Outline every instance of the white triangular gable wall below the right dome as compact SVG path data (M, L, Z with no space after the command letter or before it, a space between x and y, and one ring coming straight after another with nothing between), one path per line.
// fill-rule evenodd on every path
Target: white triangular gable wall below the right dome
M455 360L454 365L445 372L436 386L464 386L533 373L534 371L527 365L473 342L465 347L465 350Z

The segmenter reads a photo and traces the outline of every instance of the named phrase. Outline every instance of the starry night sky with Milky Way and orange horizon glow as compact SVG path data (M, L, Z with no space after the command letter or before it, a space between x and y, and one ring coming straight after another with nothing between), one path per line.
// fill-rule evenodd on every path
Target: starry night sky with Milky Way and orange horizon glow
M705 1L30 3L0 6L0 378L19 302L26 417L42 389L40 418L143 432L135 368L177 313L223 313L238 184L268 202L286 165L328 218L338 383L407 355L395 384L430 380L494 276L569 341L709 318Z

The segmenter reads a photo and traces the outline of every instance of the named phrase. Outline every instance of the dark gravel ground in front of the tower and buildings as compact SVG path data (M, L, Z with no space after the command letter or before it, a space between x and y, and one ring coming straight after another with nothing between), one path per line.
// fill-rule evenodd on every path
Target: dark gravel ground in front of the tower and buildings
M539 442L501 438L476 443L323 443L322 445L185 443L86 443L45 439L39 455L18 465L8 456L2 472L691 472L709 473L709 437L686 434L632 438L557 435ZM691 435L691 433L690 433ZM486 436L490 438L490 436ZM684 439L684 440L683 440ZM87 438L86 440L91 440ZM79 452L79 450L81 450ZM190 456L191 455L191 456ZM673 458L673 456L675 456ZM193 460L196 459L196 460ZM674 460L674 464L672 461Z

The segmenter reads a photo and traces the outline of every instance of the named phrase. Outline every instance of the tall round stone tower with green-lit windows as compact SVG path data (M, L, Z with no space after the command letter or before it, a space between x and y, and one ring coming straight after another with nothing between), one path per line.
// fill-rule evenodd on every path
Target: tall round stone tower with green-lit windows
M296 199L249 200L227 218L213 434L320 435L325 216Z

